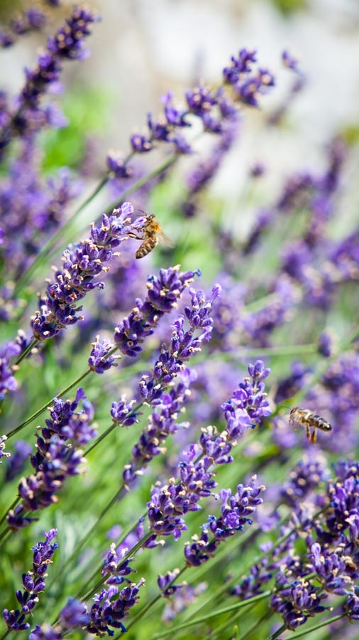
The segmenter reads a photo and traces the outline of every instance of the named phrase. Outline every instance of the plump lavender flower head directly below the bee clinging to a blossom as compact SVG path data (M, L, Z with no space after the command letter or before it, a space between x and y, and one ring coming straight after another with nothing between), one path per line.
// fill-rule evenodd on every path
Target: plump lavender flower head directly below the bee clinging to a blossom
M159 277L148 276L148 294L145 301L139 298L137 306L115 329L114 342L126 356L136 358L142 351L141 343L153 334L160 318L177 307L177 300L184 289L193 282L200 271L180 272L180 266L161 269Z

